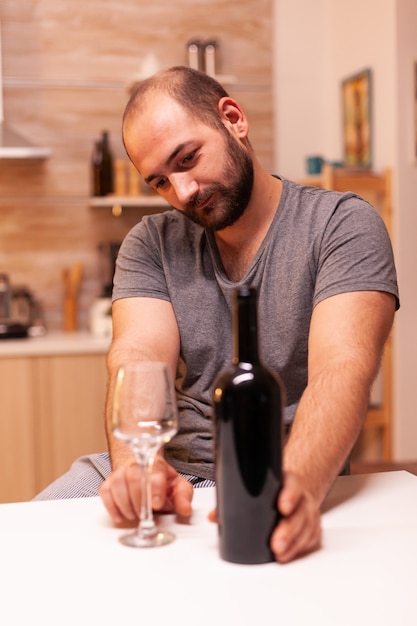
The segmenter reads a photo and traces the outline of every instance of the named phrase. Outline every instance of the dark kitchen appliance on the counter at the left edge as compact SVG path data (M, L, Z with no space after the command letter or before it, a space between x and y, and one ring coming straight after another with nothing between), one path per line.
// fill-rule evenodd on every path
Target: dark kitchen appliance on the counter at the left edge
M0 339L19 339L44 335L46 327L39 301L25 286L10 284L0 274Z

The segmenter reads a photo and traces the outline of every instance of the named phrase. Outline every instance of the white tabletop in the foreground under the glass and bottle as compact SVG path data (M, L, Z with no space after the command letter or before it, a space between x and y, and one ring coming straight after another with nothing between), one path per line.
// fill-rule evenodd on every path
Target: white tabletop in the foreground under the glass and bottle
M235 565L195 491L177 541L127 548L98 498L0 505L0 624L416 626L417 477L339 478L323 547L287 565Z

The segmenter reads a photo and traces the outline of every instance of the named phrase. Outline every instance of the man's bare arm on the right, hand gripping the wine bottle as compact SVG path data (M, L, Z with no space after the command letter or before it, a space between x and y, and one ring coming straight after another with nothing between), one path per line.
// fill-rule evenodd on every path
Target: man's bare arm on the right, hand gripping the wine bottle
M284 519L271 542L280 561L320 542L320 507L364 422L394 311L394 296L363 291L328 298L313 312L308 384L284 450Z

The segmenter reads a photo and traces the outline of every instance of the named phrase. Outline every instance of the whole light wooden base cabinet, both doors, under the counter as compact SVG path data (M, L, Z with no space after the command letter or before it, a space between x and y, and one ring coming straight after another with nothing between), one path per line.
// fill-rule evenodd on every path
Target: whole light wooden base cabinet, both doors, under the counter
M107 449L104 354L0 359L0 502L30 500Z

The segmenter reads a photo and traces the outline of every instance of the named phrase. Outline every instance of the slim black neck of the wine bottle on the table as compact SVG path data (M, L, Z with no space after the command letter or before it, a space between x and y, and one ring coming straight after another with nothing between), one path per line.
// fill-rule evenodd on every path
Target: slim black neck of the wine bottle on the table
M256 291L240 288L234 302L234 363L259 363Z

